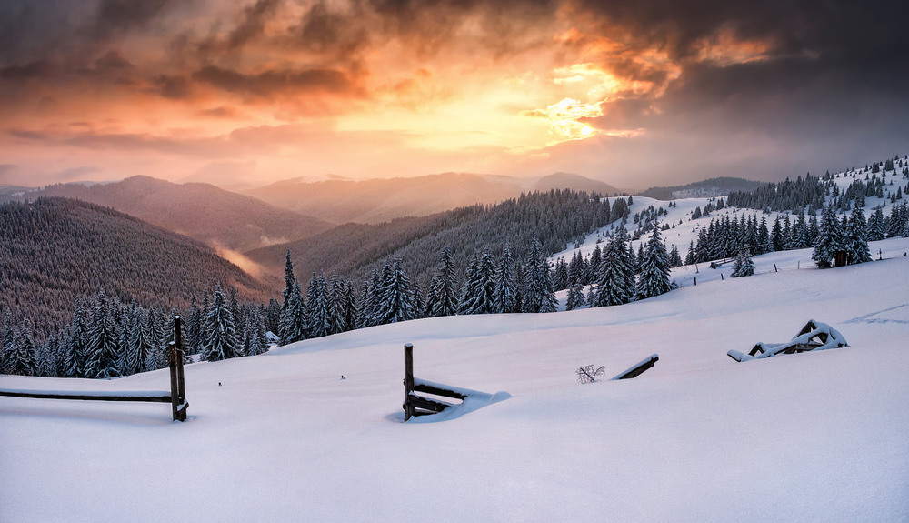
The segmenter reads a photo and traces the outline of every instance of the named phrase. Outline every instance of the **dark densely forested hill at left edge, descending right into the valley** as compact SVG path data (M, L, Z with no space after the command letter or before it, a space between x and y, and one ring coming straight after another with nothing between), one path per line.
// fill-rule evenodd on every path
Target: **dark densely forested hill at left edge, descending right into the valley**
M270 291L186 236L115 210L65 198L0 205L0 313L28 317L39 338L68 322L76 297L187 307L215 282L245 300Z

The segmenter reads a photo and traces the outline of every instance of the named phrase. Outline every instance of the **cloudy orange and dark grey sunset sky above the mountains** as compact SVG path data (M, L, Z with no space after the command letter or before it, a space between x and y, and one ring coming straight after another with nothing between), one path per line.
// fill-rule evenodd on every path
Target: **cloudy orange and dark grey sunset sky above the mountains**
M557 171L619 187L909 154L904 2L0 0L0 184Z

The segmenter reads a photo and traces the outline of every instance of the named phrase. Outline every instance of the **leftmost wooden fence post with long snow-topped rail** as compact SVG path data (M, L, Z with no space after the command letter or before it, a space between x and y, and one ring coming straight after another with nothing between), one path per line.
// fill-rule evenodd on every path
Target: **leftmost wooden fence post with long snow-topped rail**
M161 391L37 391L37 390L3 390L0 396L31 397L37 399L77 399L83 401L139 401L149 403L170 403L174 421L186 421L186 384L183 374L183 341L180 335L180 317L174 317L174 339L168 345L170 369L170 393Z

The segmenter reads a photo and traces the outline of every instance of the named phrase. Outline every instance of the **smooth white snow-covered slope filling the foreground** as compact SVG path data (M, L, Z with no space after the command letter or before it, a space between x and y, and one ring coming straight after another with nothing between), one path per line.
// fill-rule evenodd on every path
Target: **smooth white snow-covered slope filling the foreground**
M905 521L909 240L872 248L883 261L796 269L810 250L776 253L754 277L625 306L425 319L193 364L182 424L166 405L0 397L0 521ZM726 356L811 318L850 347ZM402 423L407 342L416 377L502 400ZM641 377L575 380L652 353ZM0 377L166 387L160 371Z

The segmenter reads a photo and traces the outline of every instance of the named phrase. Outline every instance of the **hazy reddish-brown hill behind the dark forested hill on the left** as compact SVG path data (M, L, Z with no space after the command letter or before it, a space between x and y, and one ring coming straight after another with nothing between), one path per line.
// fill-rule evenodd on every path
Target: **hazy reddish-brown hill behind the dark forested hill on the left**
M15 199L39 196L63 196L111 207L210 246L237 251L313 236L333 226L216 186L172 184L148 176L93 186L57 184Z

